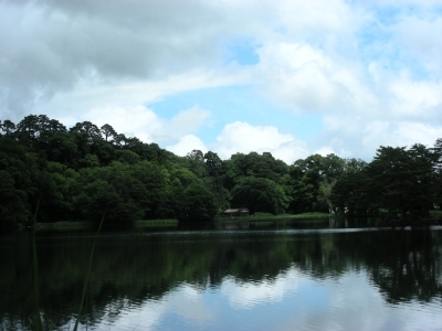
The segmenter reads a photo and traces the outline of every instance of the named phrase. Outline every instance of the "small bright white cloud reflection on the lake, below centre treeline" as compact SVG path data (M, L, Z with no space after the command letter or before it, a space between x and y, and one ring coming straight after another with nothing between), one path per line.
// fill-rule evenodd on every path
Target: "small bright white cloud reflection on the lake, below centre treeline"
M290 269L274 280L262 279L259 282L239 284L233 278L227 278L220 291L232 307L250 309L260 303L282 301L284 296L297 289L298 281L297 273Z

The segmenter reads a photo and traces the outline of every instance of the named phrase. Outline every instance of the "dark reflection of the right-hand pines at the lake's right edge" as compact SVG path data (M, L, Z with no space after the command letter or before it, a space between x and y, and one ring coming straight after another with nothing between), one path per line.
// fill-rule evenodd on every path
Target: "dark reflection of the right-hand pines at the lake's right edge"
M371 243L367 269L388 302L442 295L441 246L430 231L386 232Z

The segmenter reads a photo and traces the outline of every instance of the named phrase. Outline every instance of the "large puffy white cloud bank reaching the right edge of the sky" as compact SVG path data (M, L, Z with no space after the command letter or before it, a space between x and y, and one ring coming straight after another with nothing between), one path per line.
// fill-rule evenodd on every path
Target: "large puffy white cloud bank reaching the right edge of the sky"
M442 83L413 79L408 68L398 75L376 61L345 64L308 44L286 42L263 46L260 56L260 88L295 113L434 121L442 111Z

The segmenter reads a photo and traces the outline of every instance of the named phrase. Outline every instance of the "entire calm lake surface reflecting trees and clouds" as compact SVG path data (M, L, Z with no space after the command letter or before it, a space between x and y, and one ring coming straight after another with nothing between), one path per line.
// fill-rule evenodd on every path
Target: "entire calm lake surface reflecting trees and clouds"
M244 224L102 234L82 329L442 330L442 227ZM50 330L73 329L92 242L38 236ZM1 330L34 329L31 253L27 233L0 238Z

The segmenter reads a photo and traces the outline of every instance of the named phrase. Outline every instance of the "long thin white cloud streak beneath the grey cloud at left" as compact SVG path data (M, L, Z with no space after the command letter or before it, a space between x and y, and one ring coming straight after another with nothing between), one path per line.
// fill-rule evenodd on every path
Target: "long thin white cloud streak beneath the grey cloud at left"
M72 92L60 92L51 100L36 104L33 113L54 118L60 118L60 114L75 114L78 119L90 120L87 116L91 109L135 108L187 90L229 86L233 82L244 81L246 73L228 71L217 75L212 71L196 68L161 79L106 83L92 74L91 79L78 81ZM19 114L15 117L20 118Z

